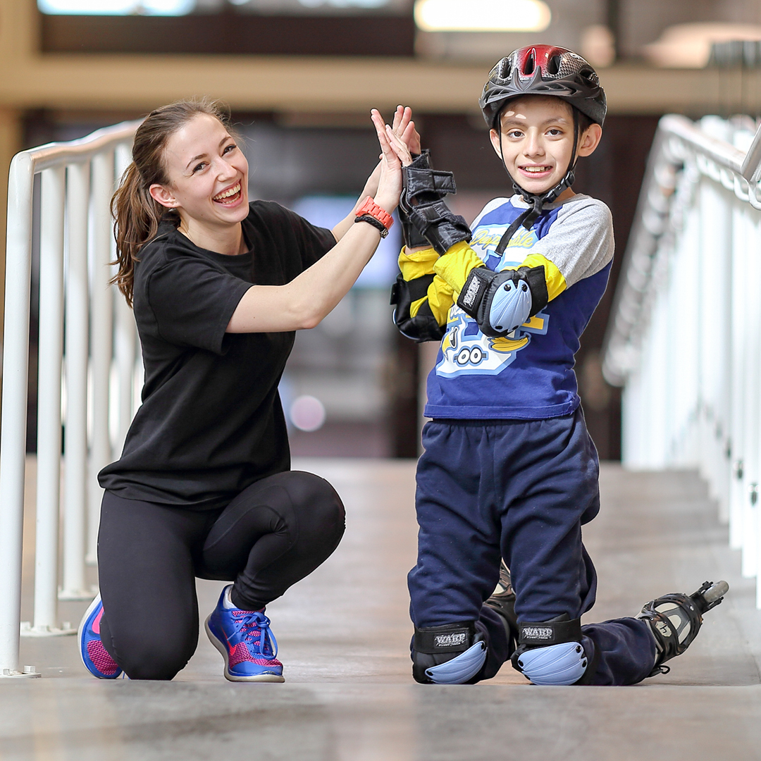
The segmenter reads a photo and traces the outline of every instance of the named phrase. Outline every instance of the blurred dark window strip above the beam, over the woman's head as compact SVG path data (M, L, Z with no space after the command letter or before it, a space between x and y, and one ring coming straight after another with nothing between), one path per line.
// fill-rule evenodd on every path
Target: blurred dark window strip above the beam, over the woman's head
M410 0L37 0L46 53L406 56Z

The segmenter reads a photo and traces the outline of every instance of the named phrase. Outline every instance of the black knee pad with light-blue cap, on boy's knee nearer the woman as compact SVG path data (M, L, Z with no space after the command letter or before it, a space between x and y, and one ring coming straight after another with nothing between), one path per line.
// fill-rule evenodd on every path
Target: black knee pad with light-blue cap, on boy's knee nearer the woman
M475 622L415 628L412 677L422 684L478 681L486 663L486 636Z

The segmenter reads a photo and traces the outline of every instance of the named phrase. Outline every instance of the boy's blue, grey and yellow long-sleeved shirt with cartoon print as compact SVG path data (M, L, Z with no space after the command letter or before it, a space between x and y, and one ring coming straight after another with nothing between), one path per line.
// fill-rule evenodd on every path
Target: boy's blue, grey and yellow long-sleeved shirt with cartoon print
M470 244L441 257L432 249L400 254L406 281L421 276L430 281L413 310L430 310L443 328L446 321L428 376L427 417L545 419L578 407L574 355L607 286L613 260L610 210L583 195L548 204L531 229L518 228L504 255L497 256L502 234L526 208L520 196L495 199L473 221ZM474 266L501 271L540 265L549 303L508 336L484 336L476 320L457 307Z

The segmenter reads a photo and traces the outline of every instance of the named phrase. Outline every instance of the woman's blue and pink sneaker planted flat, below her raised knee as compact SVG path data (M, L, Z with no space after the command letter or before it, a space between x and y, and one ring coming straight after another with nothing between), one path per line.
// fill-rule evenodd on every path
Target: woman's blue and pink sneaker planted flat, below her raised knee
M224 658L224 678L231 682L285 682L275 658L278 643L264 610L225 608L224 587L217 607L206 619L206 634Z

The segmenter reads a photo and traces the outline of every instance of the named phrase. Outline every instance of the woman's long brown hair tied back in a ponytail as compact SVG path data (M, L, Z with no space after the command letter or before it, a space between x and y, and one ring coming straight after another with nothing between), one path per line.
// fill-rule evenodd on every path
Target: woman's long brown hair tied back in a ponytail
M151 111L135 132L132 163L126 168L111 199L113 234L116 237L116 261L113 264L119 265L119 272L111 282L116 283L130 307L139 250L154 237L163 219L180 224L178 212L155 201L149 188L154 183L169 183L164 165L167 141L199 114L214 116L228 127L227 114L219 103L208 98L177 100Z

